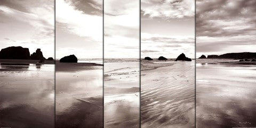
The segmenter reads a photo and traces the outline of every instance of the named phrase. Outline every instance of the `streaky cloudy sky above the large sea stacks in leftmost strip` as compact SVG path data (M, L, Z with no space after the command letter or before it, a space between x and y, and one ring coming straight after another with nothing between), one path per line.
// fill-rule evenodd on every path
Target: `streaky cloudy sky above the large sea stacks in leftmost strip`
M54 0L1 0L0 49L40 48L45 58L54 57Z

